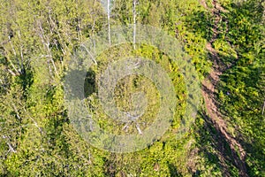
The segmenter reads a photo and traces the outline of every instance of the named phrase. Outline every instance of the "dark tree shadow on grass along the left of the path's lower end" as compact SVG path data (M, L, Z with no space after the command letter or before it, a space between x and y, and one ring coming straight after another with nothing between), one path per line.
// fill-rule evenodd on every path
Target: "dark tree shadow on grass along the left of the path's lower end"
M207 158L210 164L215 164L216 168L220 168L223 176L238 175L234 169L238 168L239 162L233 158L235 156L239 158L238 153L231 150L226 137L206 112L201 111L199 115L204 120L204 125L198 130L199 135L196 137L196 142L199 144L204 158Z

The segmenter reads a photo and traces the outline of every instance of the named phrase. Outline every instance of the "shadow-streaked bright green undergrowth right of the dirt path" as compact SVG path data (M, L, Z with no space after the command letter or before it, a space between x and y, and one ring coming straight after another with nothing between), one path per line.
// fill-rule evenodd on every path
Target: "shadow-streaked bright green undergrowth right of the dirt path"
M246 151L249 174L264 173L264 17L260 1L225 4L223 13L229 21L227 44L215 47L223 62L234 65L221 77L221 110L231 121L231 129L240 137ZM222 23L222 21L221 21ZM223 44L222 44L223 43ZM231 46L231 47L229 47ZM229 58L229 59L227 59Z

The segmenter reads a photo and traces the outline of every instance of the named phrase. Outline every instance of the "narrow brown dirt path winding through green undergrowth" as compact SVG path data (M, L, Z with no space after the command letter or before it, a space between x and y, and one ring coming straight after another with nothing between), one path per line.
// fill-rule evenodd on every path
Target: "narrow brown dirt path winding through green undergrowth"
M209 51L213 68L212 71L209 73L208 78L202 82L203 90L202 95L205 100L206 109L208 113L207 119L210 119L213 126L216 128L217 133L219 133L219 138L223 138L220 140L216 138L217 146L220 146L220 143L227 142L231 149L231 161L235 166L239 169L240 176L248 176L246 173L246 151L243 149L242 145L229 133L228 126L223 119L223 115L218 111L218 103L216 102L216 87L219 81L220 75L227 69L227 66L224 65L221 59L218 57L216 50L213 48L213 42L216 40L216 36L218 35L218 22L221 20L220 12L225 12L223 7L214 0L212 2L213 8L209 9L208 5L205 3L205 0L201 0L201 4L210 10L212 14L215 16L215 24L213 28L213 36L208 42L206 48ZM218 137L218 136L216 136ZM223 145L222 145L223 146ZM225 150L224 148L219 148L220 151L220 161L224 164L224 168L227 166L225 165ZM226 167L225 167L226 166ZM224 172L224 175L227 176L229 174Z

